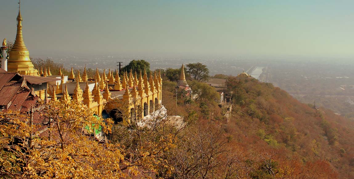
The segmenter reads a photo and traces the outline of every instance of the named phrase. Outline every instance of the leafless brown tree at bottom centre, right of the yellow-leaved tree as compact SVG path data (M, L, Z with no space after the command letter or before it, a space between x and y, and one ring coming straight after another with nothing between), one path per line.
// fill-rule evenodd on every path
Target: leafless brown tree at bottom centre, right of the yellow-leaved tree
M183 133L179 146L169 159L175 166L177 178L214 178L212 173L222 165L227 152L226 138L221 127L196 125Z

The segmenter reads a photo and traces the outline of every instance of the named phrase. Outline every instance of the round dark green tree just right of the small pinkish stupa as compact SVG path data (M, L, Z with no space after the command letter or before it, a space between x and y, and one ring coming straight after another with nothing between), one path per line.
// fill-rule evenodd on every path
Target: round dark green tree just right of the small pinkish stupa
M192 76L195 80L198 81L206 81L209 79L209 69L206 65L201 64L200 62L195 64L188 64L188 73Z

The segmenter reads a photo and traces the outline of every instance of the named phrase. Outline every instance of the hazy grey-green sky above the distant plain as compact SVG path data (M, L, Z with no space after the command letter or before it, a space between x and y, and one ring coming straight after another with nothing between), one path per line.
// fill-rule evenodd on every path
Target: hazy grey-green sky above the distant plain
M0 3L0 38L17 1ZM41 53L354 57L354 1L22 0L24 41Z

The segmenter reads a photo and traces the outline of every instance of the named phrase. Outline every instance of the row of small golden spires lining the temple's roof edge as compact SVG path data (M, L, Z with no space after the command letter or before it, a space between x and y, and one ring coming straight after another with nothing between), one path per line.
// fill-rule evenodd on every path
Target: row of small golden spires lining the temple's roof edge
M50 69L48 69L48 71L50 71ZM84 70L84 74L85 71L86 69ZM109 101L111 99L111 93L109 90L125 90L125 93L123 95L123 100L129 100L129 101L131 99L136 99L138 96L143 98L148 95L157 93L158 91L161 91L162 79L161 79L160 71L159 72L155 71L154 75L153 73L150 73L149 79L145 70L144 70L144 75L142 75L140 72L138 77L136 72L134 76L131 72L129 73L129 75L127 72L125 72L124 77L122 78L122 82L120 80L118 72L116 72L115 77L113 77L114 76L113 71L109 71L109 72L110 72L109 80L107 80L108 78L107 76L105 76L105 73L103 73L103 75L100 76L99 71L97 69L95 80L92 81L95 82L94 89L92 91L89 90L89 83L88 83L89 80L86 80L86 88L84 90L84 93L82 93L82 89L80 88L79 85L80 82L79 79L81 79L81 77L80 77L80 73L78 73L77 76L78 78L76 79L76 87L73 94L73 100L82 101L86 106L92 107L95 105L101 105L104 102ZM56 94L62 93L63 94L62 100L70 101L71 97L68 94L67 86L65 85L65 87L63 88L64 86L63 84L65 82L64 82L64 75L61 69L59 70L59 73L61 76L61 84L57 84L56 86L53 86L52 100L57 100ZM101 89L104 90L103 95L101 95L100 93ZM129 89L131 89L131 92Z

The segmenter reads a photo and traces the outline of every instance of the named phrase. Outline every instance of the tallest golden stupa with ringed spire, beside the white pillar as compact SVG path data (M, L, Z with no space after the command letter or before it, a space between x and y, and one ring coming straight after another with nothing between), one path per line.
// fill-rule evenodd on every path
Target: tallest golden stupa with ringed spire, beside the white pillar
M17 34L16 40L10 50L9 59L7 61L7 71L18 72L20 74L32 74L37 76L38 70L34 69L34 66L29 59L29 52L24 44L22 36L22 16L21 9L18 10L17 16Z

